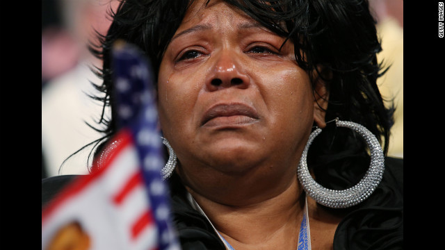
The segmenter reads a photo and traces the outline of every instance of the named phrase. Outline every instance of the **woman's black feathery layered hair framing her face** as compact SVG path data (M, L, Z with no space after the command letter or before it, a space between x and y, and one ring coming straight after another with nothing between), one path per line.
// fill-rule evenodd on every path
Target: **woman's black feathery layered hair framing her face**
M368 1L223 1L236 6L270 31L291 40L298 65L308 73L318 72L327 83L330 96L326 121L339 117L362 124L384 143L386 155L394 108L385 107L376 84L385 69L377 62L376 53L381 47ZM96 88L104 92L105 97L95 98L104 102L104 108L111 106L111 119L104 119L102 115L99 122L105 124L106 129L102 131L104 138L97 141L100 146L96 153L116 132L111 67L113 43L125 40L139 47L152 61L157 79L163 53L192 2L126 0L111 13L113 23L108 33L101 37L101 46L90 48L104 61L103 69L96 71L104 81ZM323 72L319 72L320 69ZM327 188L343 185L343 181L333 181L332 176L325 174L330 169L342 172L345 167L359 165L362 167L353 167L353 172L364 174L368 160L366 143L353 131L335 126L327 126L318 135L308 156L309 166L320 183L327 183ZM350 178L358 179L362 174Z

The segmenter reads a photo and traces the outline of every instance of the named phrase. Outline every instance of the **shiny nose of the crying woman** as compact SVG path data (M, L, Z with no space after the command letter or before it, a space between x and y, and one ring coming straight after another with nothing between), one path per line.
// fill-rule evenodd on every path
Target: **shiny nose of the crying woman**
M216 91L224 88L248 88L250 77L245 74L243 63L236 53L220 51L214 55L214 62L207 78L207 88L209 91Z

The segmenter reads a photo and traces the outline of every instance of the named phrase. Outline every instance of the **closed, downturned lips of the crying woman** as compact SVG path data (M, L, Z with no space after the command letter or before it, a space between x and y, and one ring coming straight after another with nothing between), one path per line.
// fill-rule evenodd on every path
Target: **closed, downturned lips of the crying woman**
M242 104L217 104L204 113L202 126L234 126L249 124L259 119L254 108Z

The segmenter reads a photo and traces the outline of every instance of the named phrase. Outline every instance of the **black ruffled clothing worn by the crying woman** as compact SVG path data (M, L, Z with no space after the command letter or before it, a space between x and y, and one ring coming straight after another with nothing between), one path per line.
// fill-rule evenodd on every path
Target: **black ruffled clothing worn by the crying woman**
M42 207L75 176L42 180ZM207 219L192 208L177 174L169 179L172 217L184 250L225 249ZM403 249L403 159L386 158L378 188L352 208L326 208L343 220L334 236L334 250Z

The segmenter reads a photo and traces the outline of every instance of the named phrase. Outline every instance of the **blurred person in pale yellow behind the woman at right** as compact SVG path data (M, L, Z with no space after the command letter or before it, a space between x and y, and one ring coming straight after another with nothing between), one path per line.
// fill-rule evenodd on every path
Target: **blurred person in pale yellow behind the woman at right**
M391 128L388 155L403 158L403 0L371 0L382 41L378 62L390 65L377 84L387 106L394 101L394 126Z

